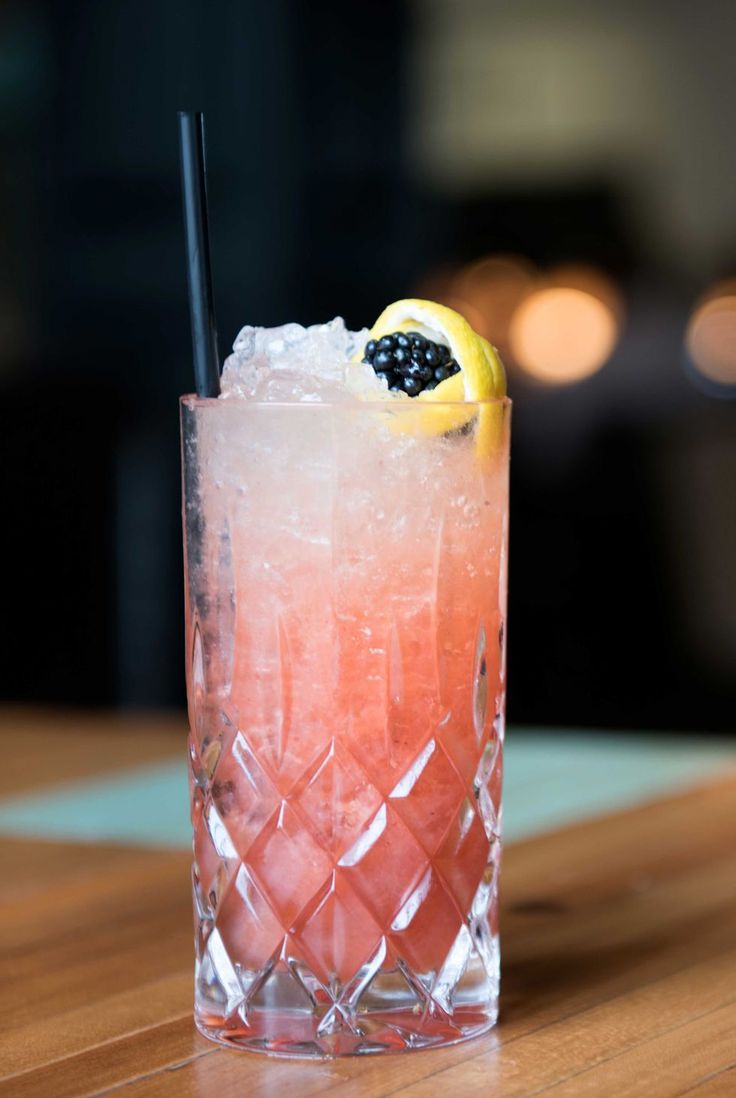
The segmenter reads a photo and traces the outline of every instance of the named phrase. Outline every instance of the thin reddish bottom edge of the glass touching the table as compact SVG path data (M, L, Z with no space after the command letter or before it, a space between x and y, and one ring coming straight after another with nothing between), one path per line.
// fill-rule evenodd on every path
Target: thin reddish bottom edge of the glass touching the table
M338 1032L321 1032L319 1019L291 1011L254 1011L247 1024L224 1019L194 1018L200 1033L227 1049L267 1056L333 1060L437 1049L487 1033L498 1011L464 1009L453 1018L422 1018L413 1011L376 1011L359 1017Z

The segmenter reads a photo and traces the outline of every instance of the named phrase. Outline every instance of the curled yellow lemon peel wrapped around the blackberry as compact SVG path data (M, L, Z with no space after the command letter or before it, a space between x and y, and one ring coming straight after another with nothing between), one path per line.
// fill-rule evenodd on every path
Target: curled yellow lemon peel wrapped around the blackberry
M492 452L499 435L501 408L500 405L493 406L488 402L498 401L506 394L505 372L498 351L488 339L473 332L466 318L454 309L419 298L394 301L384 309L370 329L370 338L378 340L392 332L413 330L445 344L460 367L460 372L441 381L435 389L425 389L412 397L413 401L427 404L426 412L420 416L398 416L397 429L444 435L464 427L477 415L478 453ZM433 404L444 405L445 402L458 402L458 406L432 407ZM460 405L465 402L473 402L480 406L464 408Z

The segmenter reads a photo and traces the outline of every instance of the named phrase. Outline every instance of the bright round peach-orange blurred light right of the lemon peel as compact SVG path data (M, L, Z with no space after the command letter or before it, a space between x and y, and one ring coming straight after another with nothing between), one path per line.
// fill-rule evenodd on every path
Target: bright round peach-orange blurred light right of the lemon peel
M549 384L568 384L595 373L617 337L618 321L611 305L586 290L561 285L526 296L510 329L515 362Z

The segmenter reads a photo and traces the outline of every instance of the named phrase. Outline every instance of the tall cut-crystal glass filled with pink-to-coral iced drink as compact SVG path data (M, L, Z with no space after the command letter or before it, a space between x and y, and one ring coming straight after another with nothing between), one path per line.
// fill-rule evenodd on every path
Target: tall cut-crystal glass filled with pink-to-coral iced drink
M495 1021L509 419L181 402L196 1019L216 1041L324 1057Z

